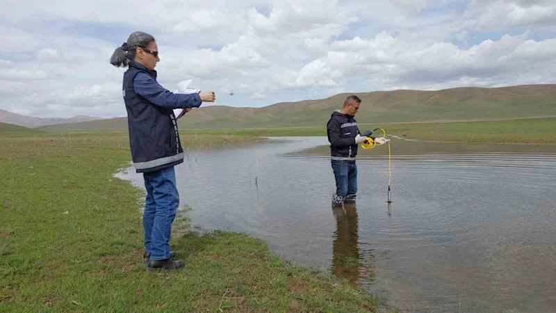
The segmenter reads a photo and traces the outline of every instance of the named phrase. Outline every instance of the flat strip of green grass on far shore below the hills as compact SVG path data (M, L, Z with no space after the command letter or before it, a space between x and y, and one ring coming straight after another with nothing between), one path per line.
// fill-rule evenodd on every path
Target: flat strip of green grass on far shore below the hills
M357 118L357 117L356 117ZM326 124L326 123L325 123ZM556 143L556 118L527 118L491 122L436 122L427 124L359 123L361 131L383 128L388 135L425 141L453 141L461 143ZM326 136L322 127L267 128L267 129L189 129L183 134L222 136ZM382 135L382 131L375 134Z

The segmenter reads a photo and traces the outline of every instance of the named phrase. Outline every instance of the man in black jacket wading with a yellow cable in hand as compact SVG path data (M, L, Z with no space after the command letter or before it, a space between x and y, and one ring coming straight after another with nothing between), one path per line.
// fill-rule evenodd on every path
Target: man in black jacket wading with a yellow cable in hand
M332 170L336 179L336 193L332 196L332 206L342 207L343 202L354 203L357 193L357 145L366 141L373 131L368 130L361 135L357 122L354 119L359 110L361 99L356 95L350 95L345 99L341 110L332 113L327 123L328 141L330 143L330 154ZM370 137L373 138L373 137ZM389 141L386 138L373 138L378 144Z

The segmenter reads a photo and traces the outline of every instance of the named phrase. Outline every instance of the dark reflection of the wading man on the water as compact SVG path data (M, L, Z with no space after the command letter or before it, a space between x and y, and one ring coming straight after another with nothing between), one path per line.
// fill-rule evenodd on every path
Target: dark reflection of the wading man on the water
M332 242L332 272L352 284L359 280L358 216L355 204L332 208L336 218L336 232Z

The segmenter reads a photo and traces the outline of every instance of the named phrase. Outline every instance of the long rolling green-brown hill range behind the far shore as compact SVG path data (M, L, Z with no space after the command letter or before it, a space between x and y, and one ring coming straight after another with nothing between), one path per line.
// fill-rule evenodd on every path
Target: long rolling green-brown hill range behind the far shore
M206 106L179 120L182 129L325 127L351 93L327 99L272 104L263 108ZM451 88L354 93L361 100L359 124L502 120L556 116L556 84L502 88ZM126 118L40 127L45 131L127 130Z

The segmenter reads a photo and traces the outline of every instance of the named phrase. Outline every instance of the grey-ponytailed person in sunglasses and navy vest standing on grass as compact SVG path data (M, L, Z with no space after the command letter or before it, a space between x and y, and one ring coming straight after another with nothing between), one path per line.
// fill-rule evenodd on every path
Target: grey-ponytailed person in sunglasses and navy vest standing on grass
M127 110L129 145L133 166L145 178L147 197L143 213L147 271L176 269L183 261L170 251L171 227L179 205L174 166L183 162L176 118L172 109L214 102L212 91L183 95L171 93L156 81L154 67L160 61L152 35L136 31L115 49L110 63L128 67L122 94Z

